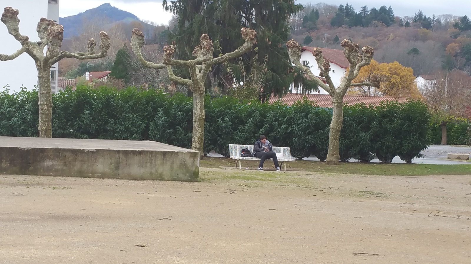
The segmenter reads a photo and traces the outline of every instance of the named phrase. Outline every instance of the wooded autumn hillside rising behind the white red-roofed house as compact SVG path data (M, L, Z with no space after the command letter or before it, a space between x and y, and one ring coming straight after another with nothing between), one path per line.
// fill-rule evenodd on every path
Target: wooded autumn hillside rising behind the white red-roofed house
M340 48L343 39L374 47L377 62L397 61L414 75L471 69L471 22L468 16L394 15L393 6L356 10L349 4L305 4L291 19L292 38L305 46Z

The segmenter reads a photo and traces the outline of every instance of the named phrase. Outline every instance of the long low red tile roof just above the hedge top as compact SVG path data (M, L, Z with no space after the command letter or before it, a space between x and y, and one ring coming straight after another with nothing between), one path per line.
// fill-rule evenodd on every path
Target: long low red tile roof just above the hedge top
M292 105L296 101L301 101L304 97L307 97L310 101L316 102L319 107L332 108L332 99L329 94L288 93L281 98L281 101L287 105ZM278 99L279 98L272 96L268 100L268 103L274 103ZM349 105L357 103L379 105L382 101L406 102L407 99L407 97L345 95L343 102Z

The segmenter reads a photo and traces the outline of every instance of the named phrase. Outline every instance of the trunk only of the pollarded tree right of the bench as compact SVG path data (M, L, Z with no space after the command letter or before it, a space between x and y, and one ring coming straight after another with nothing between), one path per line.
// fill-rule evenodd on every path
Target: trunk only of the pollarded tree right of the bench
M343 98L337 94L332 94L332 122L329 131L329 152L325 160L329 165L339 164L340 160L340 131L343 122Z

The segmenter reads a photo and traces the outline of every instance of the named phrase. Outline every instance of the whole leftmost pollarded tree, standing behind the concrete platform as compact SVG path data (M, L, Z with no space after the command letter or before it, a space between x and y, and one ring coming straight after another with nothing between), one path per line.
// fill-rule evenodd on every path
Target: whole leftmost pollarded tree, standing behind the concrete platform
M13 60L19 55L26 53L31 56L38 70L38 95L39 95L39 136L41 138L52 137L52 94L50 69L53 64L64 58L75 58L89 60L103 58L107 55L110 47L110 38L106 32L100 32L100 53L95 54L97 42L90 39L88 52L59 51L64 39L64 27L58 23L42 17L39 20L36 31L40 41L30 41L28 36L19 31L18 10L6 7L1 16L1 22L7 26L8 33L21 44L21 48L11 55L0 54L0 61ZM47 47L46 54L44 49Z

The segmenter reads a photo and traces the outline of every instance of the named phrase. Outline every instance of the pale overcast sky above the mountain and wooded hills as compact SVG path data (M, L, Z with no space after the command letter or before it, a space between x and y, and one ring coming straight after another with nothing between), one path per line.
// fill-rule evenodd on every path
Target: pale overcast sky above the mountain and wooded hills
M170 0L169 0L170 1ZM85 10L96 8L104 3L128 11L142 20L150 20L158 24L166 24L171 18L171 14L162 8L162 0L60 0L60 16L73 16ZM318 3L319 1L296 0L297 3ZM425 15L432 16L441 14L452 14L455 16L471 16L471 3L469 0L350 0L350 1L328 1L331 5L345 5L349 3L357 11L362 6L368 8L380 8L381 6L391 6L396 16L414 16L414 12L421 9ZM470 14L467 14L470 13Z

